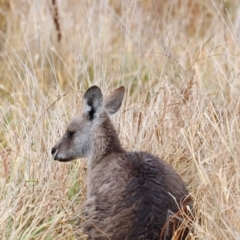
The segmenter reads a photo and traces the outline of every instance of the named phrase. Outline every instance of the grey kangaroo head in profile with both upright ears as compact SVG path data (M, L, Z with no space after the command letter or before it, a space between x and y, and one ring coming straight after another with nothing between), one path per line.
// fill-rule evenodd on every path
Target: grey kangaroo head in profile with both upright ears
M67 162L87 157L92 152L94 131L106 114L114 114L121 107L125 88L116 89L103 101L99 87L92 86L84 94L84 110L73 119L64 135L52 148L54 160Z

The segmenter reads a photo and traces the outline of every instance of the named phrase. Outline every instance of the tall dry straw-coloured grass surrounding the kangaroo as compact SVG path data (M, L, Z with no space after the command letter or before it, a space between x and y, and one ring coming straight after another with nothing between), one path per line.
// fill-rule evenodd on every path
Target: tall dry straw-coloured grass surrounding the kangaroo
M191 239L240 239L238 4L1 0L0 239L85 238L86 160L50 150L93 84L127 88L113 118L121 142L182 176Z

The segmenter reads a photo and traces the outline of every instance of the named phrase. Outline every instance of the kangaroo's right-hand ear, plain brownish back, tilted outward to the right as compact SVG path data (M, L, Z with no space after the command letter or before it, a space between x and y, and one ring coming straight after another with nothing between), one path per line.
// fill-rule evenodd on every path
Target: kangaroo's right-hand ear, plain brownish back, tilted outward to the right
M113 93L108 96L105 101L104 107L109 114L116 113L122 105L123 97L125 94L125 88L122 86L116 89Z

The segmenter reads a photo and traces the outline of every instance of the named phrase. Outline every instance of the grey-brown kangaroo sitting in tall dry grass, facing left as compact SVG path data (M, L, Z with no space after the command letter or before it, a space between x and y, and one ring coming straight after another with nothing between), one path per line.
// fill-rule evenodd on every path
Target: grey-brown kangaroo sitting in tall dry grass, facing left
M51 153L54 160L87 157L87 196L81 227L94 240L170 240L188 190L163 160L127 152L110 120L121 107L125 88L105 100L99 87L84 94L84 110L73 119ZM186 202L185 201L185 202ZM175 216L175 217L174 217ZM180 234L185 239L188 229Z

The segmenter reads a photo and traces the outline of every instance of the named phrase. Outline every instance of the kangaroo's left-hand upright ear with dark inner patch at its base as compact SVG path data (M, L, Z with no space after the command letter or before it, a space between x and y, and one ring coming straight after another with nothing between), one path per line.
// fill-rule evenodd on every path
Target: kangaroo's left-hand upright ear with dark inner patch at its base
M102 109L103 96L101 89L97 86L90 87L84 94L84 109L92 121L96 113Z

